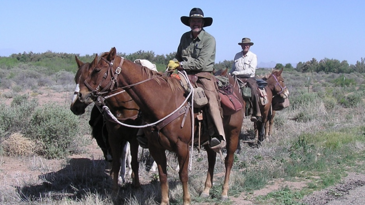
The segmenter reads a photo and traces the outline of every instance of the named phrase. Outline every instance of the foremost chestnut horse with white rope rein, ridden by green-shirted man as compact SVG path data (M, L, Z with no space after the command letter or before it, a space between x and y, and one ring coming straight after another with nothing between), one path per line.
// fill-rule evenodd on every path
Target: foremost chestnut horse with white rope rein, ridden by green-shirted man
M118 73L118 75L112 76L108 73ZM165 77L160 73L117 56L115 47L110 50L107 56L99 60L90 78L85 81L85 85L80 84L78 97L84 102L92 101L90 99L92 95L99 92L99 89L105 89L105 86L113 78L115 79L115 84L125 89L139 105L142 111L142 119L145 123L154 123L170 115L179 106L182 106L186 99L185 92L176 78ZM212 76L212 78L214 77ZM235 92L240 96L237 87ZM186 106L188 103L185 102L183 105ZM180 111L184 109L187 112L185 114L190 116L191 109L189 109L189 106L182 107ZM180 115L169 123L165 123L166 125L162 128L158 125L143 128L147 136L150 153L158 165L162 205L169 204L165 150L176 153L180 167L179 177L183 185L183 204L188 205L191 202L188 190L189 146L192 144L191 121L191 117ZM227 140L227 156L225 158L226 175L221 194L222 200L228 198L228 181L242 121L243 109L223 118L224 132ZM164 122L162 121L162 123ZM193 127L195 133L197 133L197 124L195 123ZM203 132L201 136L202 142L207 139L207 132ZM209 196L209 191L213 185L213 173L216 162L216 152L209 148L208 145L205 145L205 150L208 155L208 173L203 193L200 195L201 197Z

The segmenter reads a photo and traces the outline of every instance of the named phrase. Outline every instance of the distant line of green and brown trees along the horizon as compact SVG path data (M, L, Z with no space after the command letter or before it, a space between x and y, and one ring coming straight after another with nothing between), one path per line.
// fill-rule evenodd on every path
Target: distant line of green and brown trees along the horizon
M156 67L159 71L165 70L169 60L173 59L175 54L176 52L159 55L155 54L153 51L144 50L139 50L130 54L118 53L119 56L131 61L134 61L135 59L147 59L156 64ZM47 67L49 68L50 73L57 72L59 70L76 71L77 67L75 66L74 60L75 55L81 59L81 61L90 62L96 54L94 53L93 55L80 56L80 54L54 53L52 51L47 51L45 53L24 52L12 54L9 57L0 57L0 68L9 69L18 65L19 63L30 63L34 66ZM216 62L214 67L216 70L226 68L230 69L232 64L233 60L224 60L222 62ZM315 58L312 58L307 62L298 62L296 67L293 67L291 63L287 63L285 65L277 63L275 68L297 70L302 73L318 73L320 71L323 71L324 73L365 73L365 58L361 58L360 61L357 61L355 65L349 65L347 61L340 62L337 59L324 58L320 61L317 61Z

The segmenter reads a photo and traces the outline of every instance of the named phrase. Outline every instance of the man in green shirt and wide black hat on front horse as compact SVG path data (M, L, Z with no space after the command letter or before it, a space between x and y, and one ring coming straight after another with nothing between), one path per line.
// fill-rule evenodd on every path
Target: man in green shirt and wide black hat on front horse
M226 136L220 115L215 77L211 74L215 61L215 39L203 29L203 27L212 25L213 19L204 18L204 13L200 8L193 8L189 16L181 17L181 22L189 26L191 31L181 36L175 59L173 59L174 62L169 63L168 68L169 70L185 70L187 74L200 76L198 83L203 85L205 96L208 98L206 106L208 106L208 111L216 128L216 132L210 133L210 146L213 150L219 151L220 148L226 146ZM199 75L203 73L206 75Z

